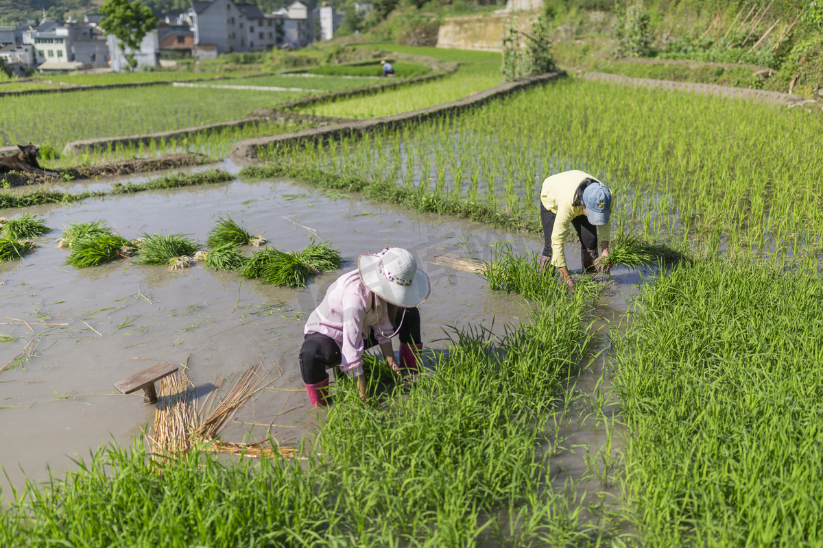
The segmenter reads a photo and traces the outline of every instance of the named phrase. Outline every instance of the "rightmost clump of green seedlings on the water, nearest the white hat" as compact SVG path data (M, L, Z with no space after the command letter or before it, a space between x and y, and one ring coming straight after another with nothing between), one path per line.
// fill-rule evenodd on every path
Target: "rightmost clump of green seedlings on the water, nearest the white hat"
M267 247L246 261L241 274L286 288L305 288L310 274L332 272L342 265L340 252L328 242L311 244L300 252L279 251Z

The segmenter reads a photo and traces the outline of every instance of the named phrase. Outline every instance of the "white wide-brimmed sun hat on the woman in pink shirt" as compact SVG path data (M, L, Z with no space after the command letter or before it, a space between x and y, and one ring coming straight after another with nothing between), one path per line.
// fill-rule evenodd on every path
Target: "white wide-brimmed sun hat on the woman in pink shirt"
M357 258L363 285L395 306L412 308L429 298L429 276L417 269L414 256L400 247L387 247Z

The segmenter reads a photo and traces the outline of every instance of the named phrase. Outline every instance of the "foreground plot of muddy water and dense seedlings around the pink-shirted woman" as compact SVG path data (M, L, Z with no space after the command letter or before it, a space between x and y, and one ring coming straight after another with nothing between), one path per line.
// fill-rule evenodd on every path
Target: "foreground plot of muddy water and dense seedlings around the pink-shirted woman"
M342 251L346 269L375 245L406 246L421 257L435 287L423 307L427 361L435 374L406 388L388 383L371 407L359 401L356 386L340 380L328 415L306 417L295 360L302 325L340 271L295 290L197 266L175 273L126 259L74 269L63 265L67 250L42 237L25 261L0 267L9 290L2 295L4 310L22 320L2 326L0 350L13 364L2 371L3 385L19 388L3 402L3 439L15 440L0 449L3 463L25 459L26 472L35 467L35 477L42 477L26 441L33 431L41 433L36 443L52 463L72 449L85 454L109 431L129 440L146 420L144 406L141 398L110 394L110 381L145 363L135 357L185 362L203 390L215 375L262 360L274 381L239 412L226 435L239 438L253 426L258 439L271 434L288 444L319 424L319 443L302 444L303 460L296 464L276 454L262 465L241 459L236 466L196 454L152 461L139 445L101 449L67 484L54 483L57 490L30 484L0 513L0 543L174 538L289 544L314 530L328 544L356 536L364 546L465 546L509 539L565 544L611 534L585 517L588 502L574 481L546 482L551 459L570 449L560 428L568 421L562 406L582 396L564 385L588 363L593 294L565 299L556 290L556 298L532 311L522 300L490 292L476 274L430 262L458 250L488 256L491 246L512 235L268 181L6 214L23 211L45 215L53 228L106 218L128 237L163 229L199 239L217 216L230 215L253 232L267 229L266 237L283 249L305 246L316 231ZM517 243L518 249L532 245ZM441 327L450 340L442 340ZM386 371L376 362L372 371L375 386L378 380L386 385ZM21 485L16 468L10 472ZM117 489L109 489L112 480ZM140 515L128 510L134 508Z

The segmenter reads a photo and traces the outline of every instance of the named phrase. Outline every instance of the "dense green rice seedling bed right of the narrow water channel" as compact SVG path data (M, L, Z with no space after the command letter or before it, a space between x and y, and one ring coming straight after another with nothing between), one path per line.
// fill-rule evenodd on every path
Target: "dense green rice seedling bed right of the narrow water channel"
M636 305L614 382L643 546L821 546L817 270L704 260Z

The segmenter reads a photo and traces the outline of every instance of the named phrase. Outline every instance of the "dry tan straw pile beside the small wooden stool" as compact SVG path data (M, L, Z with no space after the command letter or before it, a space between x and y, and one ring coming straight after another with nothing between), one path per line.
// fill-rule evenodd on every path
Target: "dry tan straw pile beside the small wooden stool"
M238 444L217 439L235 412L265 387L261 386L261 370L262 365L258 363L241 375L235 376L226 387L225 395L220 397L219 394L224 392L223 387L226 385L226 379L221 380L200 408L195 406L193 383L185 371L178 371L161 380L154 426L151 435L148 436L154 458L174 458L174 455L193 448L250 458L269 457L274 454L293 458L295 449L277 447L271 438L253 444Z

